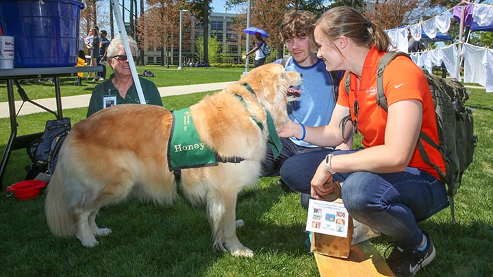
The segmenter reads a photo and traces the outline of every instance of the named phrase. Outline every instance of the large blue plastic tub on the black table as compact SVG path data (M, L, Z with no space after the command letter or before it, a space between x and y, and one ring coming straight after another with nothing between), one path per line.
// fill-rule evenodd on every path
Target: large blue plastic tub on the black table
M76 0L1 0L1 31L15 38L14 67L75 66L82 9Z

